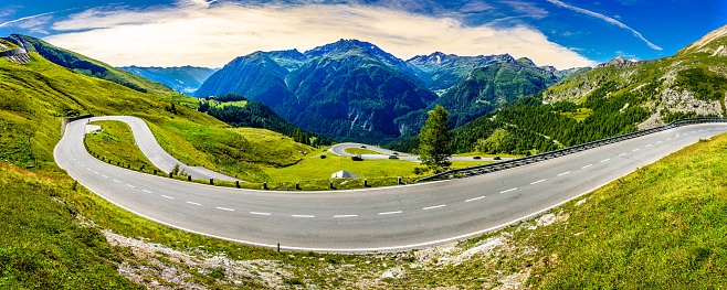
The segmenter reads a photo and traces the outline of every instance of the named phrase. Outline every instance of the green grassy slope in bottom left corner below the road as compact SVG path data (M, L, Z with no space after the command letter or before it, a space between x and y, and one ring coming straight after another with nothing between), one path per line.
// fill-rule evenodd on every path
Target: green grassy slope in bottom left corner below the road
M80 224L65 203L74 187L0 162L0 288L144 289L117 272L123 258L101 230Z

